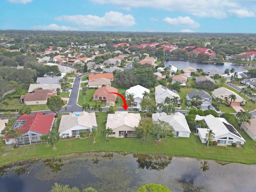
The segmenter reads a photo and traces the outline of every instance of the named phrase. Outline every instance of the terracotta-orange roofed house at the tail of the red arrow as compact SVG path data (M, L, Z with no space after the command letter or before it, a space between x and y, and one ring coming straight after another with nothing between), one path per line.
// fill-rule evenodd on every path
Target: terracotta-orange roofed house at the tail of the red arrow
M96 89L93 94L94 100L99 100L102 102L115 102L117 98L117 94L112 94L110 92L118 92L118 89L114 87L104 86Z

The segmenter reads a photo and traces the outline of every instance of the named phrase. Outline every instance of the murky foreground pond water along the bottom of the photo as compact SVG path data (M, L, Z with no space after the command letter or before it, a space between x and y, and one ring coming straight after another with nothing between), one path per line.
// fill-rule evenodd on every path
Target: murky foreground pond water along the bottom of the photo
M204 160L202 160L204 162ZM172 192L255 192L256 165L127 153L81 153L0 168L1 192L47 192L54 182L98 192L136 192L149 183ZM204 166L204 168L207 166Z

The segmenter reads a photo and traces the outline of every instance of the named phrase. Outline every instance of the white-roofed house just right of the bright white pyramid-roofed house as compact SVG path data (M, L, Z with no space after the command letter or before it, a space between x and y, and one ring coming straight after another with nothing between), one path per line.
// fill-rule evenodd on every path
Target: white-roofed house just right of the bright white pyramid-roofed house
M166 97L169 97L169 98L178 97L180 99L180 96L179 96L178 92L171 91L171 90L169 90L168 88L166 88L163 85L156 86L155 87L155 100L156 100L156 103L164 102Z

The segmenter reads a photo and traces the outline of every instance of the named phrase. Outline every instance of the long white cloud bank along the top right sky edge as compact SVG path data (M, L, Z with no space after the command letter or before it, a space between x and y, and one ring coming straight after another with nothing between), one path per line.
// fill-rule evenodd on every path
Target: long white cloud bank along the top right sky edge
M253 11L249 11L255 6L255 0L90 0L98 4L112 4L118 8L153 8L157 10L167 10L170 12L183 12L198 17L212 17L223 19L228 16L241 15L251 17ZM229 14L228 10L244 10L248 14ZM128 9L129 10L129 9ZM252 9L253 10L253 9ZM251 13L252 12L252 13Z

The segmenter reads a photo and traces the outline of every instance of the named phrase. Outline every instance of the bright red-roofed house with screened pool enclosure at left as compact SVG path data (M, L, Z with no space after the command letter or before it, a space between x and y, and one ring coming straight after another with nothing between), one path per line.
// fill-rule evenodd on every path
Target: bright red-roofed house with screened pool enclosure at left
M48 134L52 129L54 123L55 114L43 114L42 112L36 112L33 115L23 114L20 116L11 128L19 129L22 133L16 141L18 145L28 145L33 143L43 142L40 136ZM4 137L5 144L14 144L15 139L7 139L7 135Z

